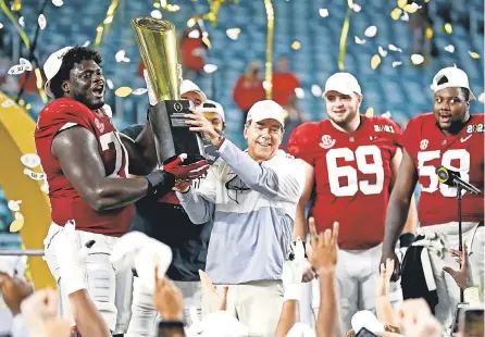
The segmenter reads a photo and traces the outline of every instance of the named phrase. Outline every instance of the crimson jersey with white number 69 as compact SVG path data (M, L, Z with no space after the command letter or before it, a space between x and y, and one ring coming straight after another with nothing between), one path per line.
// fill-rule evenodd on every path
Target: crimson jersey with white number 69
M388 118L361 115L353 133L329 120L294 130L288 151L314 167L311 212L319 232L338 221L343 249L368 249L384 239L391 179L390 161L399 147L400 127Z

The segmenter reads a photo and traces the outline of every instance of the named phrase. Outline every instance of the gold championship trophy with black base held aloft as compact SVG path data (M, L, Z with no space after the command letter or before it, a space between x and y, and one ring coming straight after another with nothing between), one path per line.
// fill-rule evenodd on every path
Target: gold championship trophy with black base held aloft
M148 113L160 165L182 153L184 165L203 159L203 143L199 134L185 124L190 102L181 100L182 70L177 60L175 26L153 17L132 18L141 60L148 72L157 101Z

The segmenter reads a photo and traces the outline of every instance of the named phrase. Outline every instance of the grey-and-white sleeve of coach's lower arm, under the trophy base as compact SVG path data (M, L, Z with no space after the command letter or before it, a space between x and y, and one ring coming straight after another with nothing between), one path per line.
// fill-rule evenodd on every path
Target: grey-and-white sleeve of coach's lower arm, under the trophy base
M204 224L211 220L215 210L215 167L208 171L208 176L196 190L192 187L186 194L176 192L182 207L194 224Z

